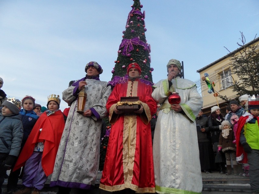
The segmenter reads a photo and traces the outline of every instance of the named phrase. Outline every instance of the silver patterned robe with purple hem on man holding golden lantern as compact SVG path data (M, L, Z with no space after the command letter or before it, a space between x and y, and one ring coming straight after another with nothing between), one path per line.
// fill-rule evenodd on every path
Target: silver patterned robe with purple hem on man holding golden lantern
M85 80L85 79L81 79ZM86 79L87 100L84 111L91 117L77 113L78 83L63 91L63 100L71 104L60 141L50 186L90 189L95 185L99 167L102 118L108 115L106 102L111 93L107 82ZM101 118L101 119L100 119Z

